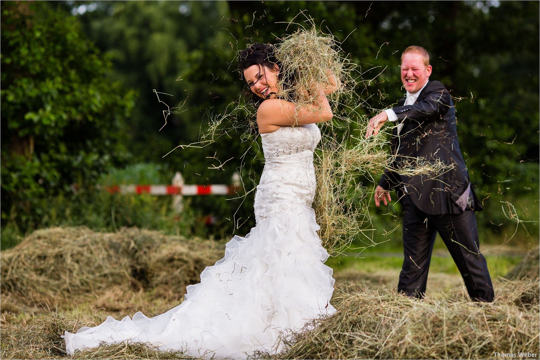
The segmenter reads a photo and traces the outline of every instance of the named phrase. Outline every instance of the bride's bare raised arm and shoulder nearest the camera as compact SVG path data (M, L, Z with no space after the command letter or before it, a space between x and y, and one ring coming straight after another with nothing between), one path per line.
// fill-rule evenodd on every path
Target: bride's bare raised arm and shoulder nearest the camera
M322 123L332 119L332 108L320 88L313 104L298 106L290 101L268 99L262 102L257 111L259 132L267 133L278 130L282 125L305 125Z

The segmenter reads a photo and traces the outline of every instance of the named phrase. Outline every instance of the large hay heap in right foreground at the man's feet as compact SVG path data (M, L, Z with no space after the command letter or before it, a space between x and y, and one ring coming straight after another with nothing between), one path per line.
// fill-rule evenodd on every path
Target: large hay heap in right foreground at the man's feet
M289 338L281 359L492 358L495 351L539 352L538 297L515 303L538 282L496 283L494 303L471 303L461 289L440 301L394 291L336 289L339 310Z

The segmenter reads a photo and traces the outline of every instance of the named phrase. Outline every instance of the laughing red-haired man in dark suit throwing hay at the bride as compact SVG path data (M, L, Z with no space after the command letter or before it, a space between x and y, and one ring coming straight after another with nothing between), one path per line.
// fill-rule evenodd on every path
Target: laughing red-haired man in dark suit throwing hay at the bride
M369 120L366 138L387 121L396 159L375 189L375 205L391 201L395 189L403 207L403 267L397 290L411 297L426 293L435 236L441 235L453 257L469 296L491 302L494 290L488 266L480 253L475 211L482 210L457 141L455 108L446 87L430 81L426 49L409 46L401 56L401 81L407 96L398 106ZM436 175L400 175L393 170L406 162L442 162L449 169Z

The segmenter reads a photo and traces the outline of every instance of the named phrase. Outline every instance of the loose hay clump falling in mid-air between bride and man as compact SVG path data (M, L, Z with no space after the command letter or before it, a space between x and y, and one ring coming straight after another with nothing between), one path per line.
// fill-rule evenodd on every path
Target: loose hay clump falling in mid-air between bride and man
M386 141L350 139L353 142L347 145L325 136L315 154L317 191L313 208L321 227L322 245L334 254L346 250L359 236L368 241L368 246L376 244L363 235L370 225L367 209L371 194L363 182L371 173L382 171L388 162Z

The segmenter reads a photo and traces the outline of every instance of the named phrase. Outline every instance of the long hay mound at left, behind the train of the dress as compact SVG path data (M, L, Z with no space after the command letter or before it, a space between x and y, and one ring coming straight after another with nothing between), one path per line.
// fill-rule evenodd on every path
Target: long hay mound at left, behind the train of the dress
M198 282L201 271L222 255L221 244L214 241L187 241L137 228L117 233L85 227L38 230L2 252L2 311L53 309L68 299L84 301L112 287L167 286L163 291L180 298L185 287Z

